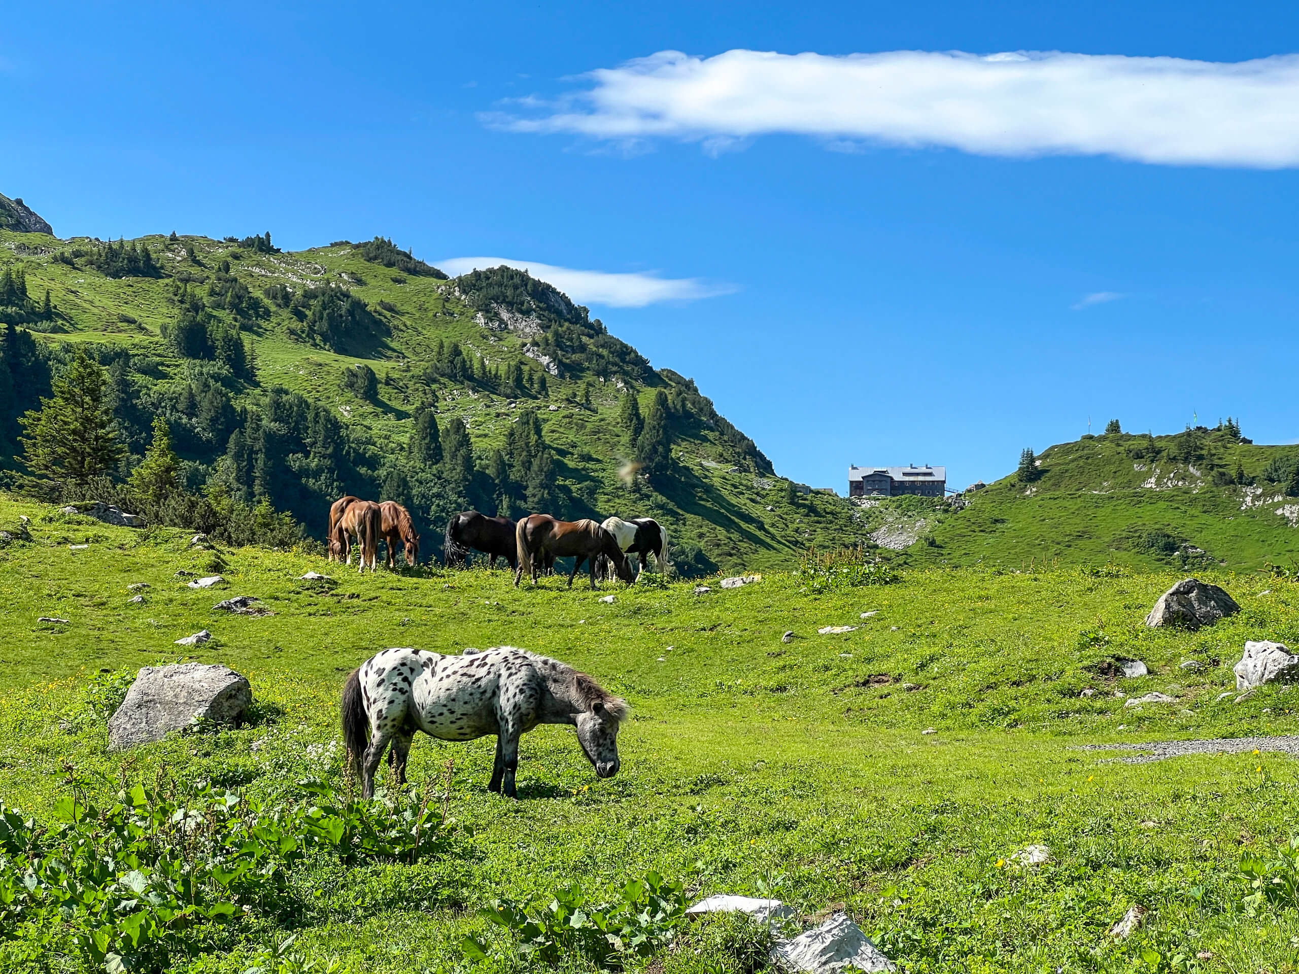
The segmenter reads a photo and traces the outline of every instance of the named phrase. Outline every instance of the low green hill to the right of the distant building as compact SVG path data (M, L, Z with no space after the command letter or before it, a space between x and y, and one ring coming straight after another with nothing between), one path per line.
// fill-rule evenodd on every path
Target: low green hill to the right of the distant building
M1295 447L1224 429L1111 434L1043 451L1028 481L1012 474L955 503L885 501L859 517L872 532L924 522L905 548L916 565L1290 570L1299 560L1296 462Z

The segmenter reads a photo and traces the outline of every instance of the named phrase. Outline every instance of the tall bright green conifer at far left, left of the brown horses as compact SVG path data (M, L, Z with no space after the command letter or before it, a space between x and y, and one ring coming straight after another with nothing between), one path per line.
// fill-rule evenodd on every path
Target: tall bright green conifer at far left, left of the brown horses
M30 470L81 486L117 465L125 451L105 401L107 386L104 370L78 348L68 371L55 381L55 395L19 419Z

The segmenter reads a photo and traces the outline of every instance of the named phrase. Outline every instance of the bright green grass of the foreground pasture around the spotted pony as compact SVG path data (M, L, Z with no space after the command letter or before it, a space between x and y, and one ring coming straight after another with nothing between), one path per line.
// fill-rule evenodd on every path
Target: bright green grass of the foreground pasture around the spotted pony
M1283 688L1217 701L1246 639L1299 642L1291 586L1212 574L1243 612L1194 634L1141 625L1172 573L929 569L824 596L777 574L695 596L692 584L569 592L557 578L516 590L504 573L477 570L359 578L307 555L240 549L218 553L226 588L195 591L174 573L207 570L213 556L188 549L183 532L112 529L13 500L0 500L0 527L21 513L35 542L0 549L0 800L38 818L65 793L68 765L101 795L158 775L264 795L318 775L343 791L331 747L339 688L388 645L522 645L590 671L634 706L622 771L609 780L594 777L566 730L526 735L518 803L486 792L490 739L418 739L413 787L456 821L447 855L304 866L291 877L291 923L238 921L233 945L177 970L243 970L290 934L309 956L355 971L453 970L472 934L491 947L490 966L514 969L508 938L477 908L569 882L603 895L647 869L696 895L774 890L808 914L843 904L917 973L1170 970L1178 955L1190 957L1186 970L1293 970L1299 914L1248 917L1237 873L1242 853L1269 858L1295 832L1294 762L1124 765L1076 749L1296 732ZM297 582L309 569L336 586ZM143 606L126 603L135 582L151 586ZM612 605L598 601L607 592ZM235 593L275 614L212 610ZM869 610L878 614L860 619ZM816 634L827 625L860 629ZM174 645L204 627L213 643ZM787 644L786 630L798 634ZM108 753L104 723L87 710L92 679L190 656L248 675L264 719ZM1152 675L1099 675L1098 664L1129 656ZM1208 666L1183 671L1187 658ZM883 675L887 684L873 684ZM1096 695L1081 697L1085 687ZM1178 703L1124 706L1151 690ZM929 727L937 732L921 732ZM1008 866L1030 843L1050 845L1053 861ZM1138 903L1154 910L1146 926L1126 942L1107 938ZM651 965L740 969L725 944L704 947L708 931L690 936L695 947ZM49 957L36 969L74 968Z

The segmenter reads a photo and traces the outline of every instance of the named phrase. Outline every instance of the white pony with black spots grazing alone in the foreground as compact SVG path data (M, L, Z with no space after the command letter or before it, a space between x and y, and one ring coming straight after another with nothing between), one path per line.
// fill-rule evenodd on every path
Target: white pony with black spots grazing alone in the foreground
M343 740L361 775L361 793L374 795L374 771L392 743L397 782L405 784L414 732L442 740L496 735L490 791L518 797L518 739L539 723L577 729L583 753L600 778L618 773L618 726L627 701L568 664L499 645L481 653L439 656L422 649L385 649L347 678Z

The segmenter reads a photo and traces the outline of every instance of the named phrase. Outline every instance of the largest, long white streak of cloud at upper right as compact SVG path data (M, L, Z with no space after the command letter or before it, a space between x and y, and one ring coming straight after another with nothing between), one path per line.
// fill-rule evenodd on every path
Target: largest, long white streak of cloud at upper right
M1299 165L1299 55L1177 57L892 51L831 57L662 51L591 71L587 91L514 103L488 125L635 143L743 144L772 132L986 156L1103 155L1139 162Z

